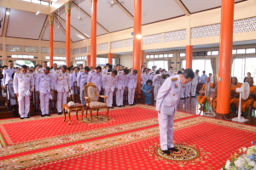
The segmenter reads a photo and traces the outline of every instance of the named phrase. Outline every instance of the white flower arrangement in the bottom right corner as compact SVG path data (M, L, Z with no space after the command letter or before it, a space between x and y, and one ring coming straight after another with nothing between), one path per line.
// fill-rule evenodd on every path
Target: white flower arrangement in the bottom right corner
M256 145L242 147L238 153L230 157L221 170L256 170Z

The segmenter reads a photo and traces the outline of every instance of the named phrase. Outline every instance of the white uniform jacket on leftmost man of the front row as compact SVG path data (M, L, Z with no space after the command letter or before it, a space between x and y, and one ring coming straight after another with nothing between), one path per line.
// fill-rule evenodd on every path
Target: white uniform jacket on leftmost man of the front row
M15 94L19 94L20 97L30 95L34 90L34 79L32 73L26 72L26 74L23 74L20 71L16 72L14 77L14 86Z

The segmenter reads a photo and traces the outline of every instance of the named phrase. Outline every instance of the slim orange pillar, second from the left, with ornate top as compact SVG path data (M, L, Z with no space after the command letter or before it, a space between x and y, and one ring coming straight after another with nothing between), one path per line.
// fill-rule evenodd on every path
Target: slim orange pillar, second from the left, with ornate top
M71 3L65 3L66 10L66 65L70 66L70 13Z

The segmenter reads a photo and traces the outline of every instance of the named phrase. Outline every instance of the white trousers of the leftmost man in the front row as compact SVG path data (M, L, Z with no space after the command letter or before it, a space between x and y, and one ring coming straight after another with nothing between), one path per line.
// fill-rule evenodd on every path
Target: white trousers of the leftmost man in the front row
M18 102L19 102L20 117L28 116L28 111L30 109L30 95L26 95L26 96L19 95Z

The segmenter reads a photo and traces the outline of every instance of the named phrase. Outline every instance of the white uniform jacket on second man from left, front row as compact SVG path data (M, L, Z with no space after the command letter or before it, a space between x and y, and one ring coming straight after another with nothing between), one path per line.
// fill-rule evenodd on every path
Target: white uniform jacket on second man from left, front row
M50 72L46 75L44 72L38 73L36 79L36 91L39 91L40 94L49 94L50 90L53 89L53 76Z

